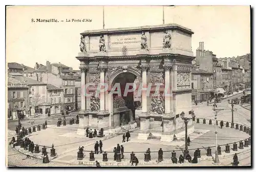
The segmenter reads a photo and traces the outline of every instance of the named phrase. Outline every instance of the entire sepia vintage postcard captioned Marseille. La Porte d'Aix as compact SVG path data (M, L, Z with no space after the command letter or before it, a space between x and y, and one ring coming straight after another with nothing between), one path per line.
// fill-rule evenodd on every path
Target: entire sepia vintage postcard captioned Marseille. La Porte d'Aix
M251 167L250 6L6 6L6 166Z

